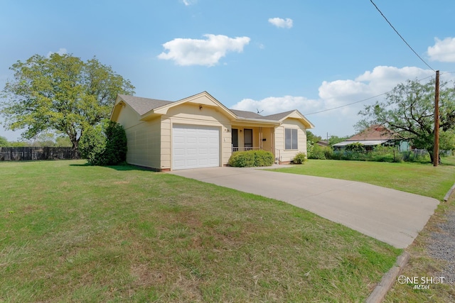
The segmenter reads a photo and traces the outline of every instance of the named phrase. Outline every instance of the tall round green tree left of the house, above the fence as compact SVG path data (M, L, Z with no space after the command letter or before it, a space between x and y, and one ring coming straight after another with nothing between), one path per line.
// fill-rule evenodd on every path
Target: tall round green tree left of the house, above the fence
M10 67L0 113L11 130L25 129L31 139L46 131L64 133L77 146L82 132L109 118L117 94L134 94L129 80L102 65L96 57L82 61L73 55L33 55Z

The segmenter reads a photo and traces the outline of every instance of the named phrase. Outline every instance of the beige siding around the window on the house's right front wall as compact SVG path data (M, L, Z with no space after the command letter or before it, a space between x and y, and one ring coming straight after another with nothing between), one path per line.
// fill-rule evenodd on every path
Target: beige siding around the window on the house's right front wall
M285 128L297 129L298 149L285 149ZM280 161L289 162L294 159L297 153L306 153L306 128L297 119L285 119L281 126L275 128L275 148L279 150Z

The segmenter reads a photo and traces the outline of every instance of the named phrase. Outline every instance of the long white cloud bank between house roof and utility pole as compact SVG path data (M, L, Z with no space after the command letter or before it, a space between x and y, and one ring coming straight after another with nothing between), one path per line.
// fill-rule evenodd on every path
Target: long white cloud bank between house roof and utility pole
M424 79L432 75L434 75L432 70L422 70L418 67L378 66L355 79L322 82L318 99L303 96L243 99L231 107L243 111L264 110L261 113L264 116L298 109L314 123L316 126L314 133L324 136L326 132L335 136L350 136L355 133L353 125L361 119L358 111L363 109L365 104L373 104L383 99L385 96L382 94L391 91L397 84L406 82L407 79ZM321 113L314 114L320 111Z

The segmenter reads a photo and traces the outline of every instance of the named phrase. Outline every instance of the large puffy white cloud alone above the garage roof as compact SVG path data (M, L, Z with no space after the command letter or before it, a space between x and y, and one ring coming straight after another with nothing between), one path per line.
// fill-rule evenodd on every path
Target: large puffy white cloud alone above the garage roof
M177 65L216 65L228 52L242 53L249 37L229 38L226 35L204 35L206 40L176 38L163 44L168 53L159 59L174 60Z

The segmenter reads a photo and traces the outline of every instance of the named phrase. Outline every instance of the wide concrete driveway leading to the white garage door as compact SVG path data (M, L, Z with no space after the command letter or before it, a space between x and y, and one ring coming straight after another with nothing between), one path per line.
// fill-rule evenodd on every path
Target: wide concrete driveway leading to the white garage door
M362 182L255 168L210 167L170 173L281 200L396 248L407 248L414 241L439 204L437 199Z

